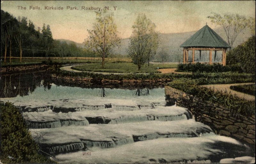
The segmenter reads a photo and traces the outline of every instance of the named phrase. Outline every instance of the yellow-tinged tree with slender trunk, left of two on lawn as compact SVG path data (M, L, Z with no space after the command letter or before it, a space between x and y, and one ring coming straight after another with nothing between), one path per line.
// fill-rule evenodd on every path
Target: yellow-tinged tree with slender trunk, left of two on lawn
M85 40L85 46L102 58L102 68L104 68L105 58L111 53L112 48L120 43L113 13L108 13L106 10L96 12L96 23L93 24L92 30L87 31L89 37Z

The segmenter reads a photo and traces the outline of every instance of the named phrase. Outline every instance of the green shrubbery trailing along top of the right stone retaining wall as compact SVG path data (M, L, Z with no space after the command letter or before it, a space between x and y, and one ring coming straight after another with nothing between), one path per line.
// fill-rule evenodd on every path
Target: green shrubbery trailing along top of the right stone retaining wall
M237 114L255 115L254 101L241 99L226 92L223 93L206 87L201 87L198 86L198 83L199 81L197 79L188 80L183 78L170 82L168 85L172 88L182 90L189 95L201 97L204 101L210 101L224 106L235 116Z

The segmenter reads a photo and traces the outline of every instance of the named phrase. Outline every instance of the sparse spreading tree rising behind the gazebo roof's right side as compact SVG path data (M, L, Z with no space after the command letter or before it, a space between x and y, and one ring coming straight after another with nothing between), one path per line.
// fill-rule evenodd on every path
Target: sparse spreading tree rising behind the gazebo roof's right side
M233 47L236 37L250 25L250 20L248 18L238 14L226 14L221 16L220 14L212 13L212 15L207 18L210 18L212 23L220 25L224 29L227 35L228 44L231 47Z

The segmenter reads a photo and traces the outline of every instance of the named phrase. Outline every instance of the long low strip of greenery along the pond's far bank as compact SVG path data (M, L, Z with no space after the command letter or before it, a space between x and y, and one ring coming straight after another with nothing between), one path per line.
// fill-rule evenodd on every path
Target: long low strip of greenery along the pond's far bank
M160 79L160 78L170 78L172 80L180 78L188 79L199 79L199 84L228 84L228 83L241 83L241 82L255 82L255 75L245 74L238 72L222 72L222 73L193 73L193 74L95 74L92 72L69 72L57 69L54 73L63 76L72 77L88 77L93 78L93 81L99 82L102 79L108 80L123 80L123 79Z

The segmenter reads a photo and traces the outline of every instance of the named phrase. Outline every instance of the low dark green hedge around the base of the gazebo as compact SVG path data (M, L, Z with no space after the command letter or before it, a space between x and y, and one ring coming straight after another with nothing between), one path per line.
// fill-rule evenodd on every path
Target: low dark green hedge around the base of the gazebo
M243 72L241 69L241 66L238 64L233 64L230 66L222 66L219 63L214 63L212 65L209 64L202 64L202 63L196 63L196 64L179 64L177 71L180 72Z

